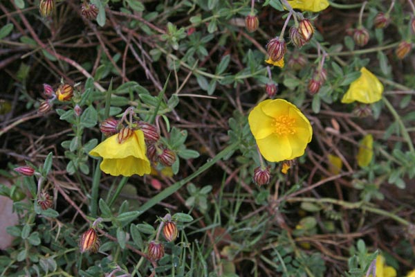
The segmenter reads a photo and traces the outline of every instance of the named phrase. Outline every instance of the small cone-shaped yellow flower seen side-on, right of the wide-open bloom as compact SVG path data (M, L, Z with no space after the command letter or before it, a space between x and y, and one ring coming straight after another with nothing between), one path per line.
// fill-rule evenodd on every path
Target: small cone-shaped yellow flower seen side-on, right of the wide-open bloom
M371 104L382 98L383 84L376 76L365 67L360 69L362 75L354 80L346 94L342 98L342 103L351 103L354 101Z

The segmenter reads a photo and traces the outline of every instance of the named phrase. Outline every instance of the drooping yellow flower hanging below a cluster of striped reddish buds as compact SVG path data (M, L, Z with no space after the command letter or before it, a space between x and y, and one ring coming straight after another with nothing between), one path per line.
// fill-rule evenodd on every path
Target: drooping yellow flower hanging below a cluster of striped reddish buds
M118 134L110 136L89 152L92 156L102 157L101 170L113 176L149 174L151 166L145 155L146 147L142 131L133 131L133 134L122 143L118 143L117 136Z

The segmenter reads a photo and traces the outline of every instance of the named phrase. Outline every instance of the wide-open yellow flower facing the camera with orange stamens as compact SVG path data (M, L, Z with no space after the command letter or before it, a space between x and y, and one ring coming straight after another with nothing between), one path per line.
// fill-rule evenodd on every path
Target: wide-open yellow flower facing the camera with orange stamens
M260 102L250 112L248 121L259 152L268 161L302 156L313 136L306 116L284 99Z

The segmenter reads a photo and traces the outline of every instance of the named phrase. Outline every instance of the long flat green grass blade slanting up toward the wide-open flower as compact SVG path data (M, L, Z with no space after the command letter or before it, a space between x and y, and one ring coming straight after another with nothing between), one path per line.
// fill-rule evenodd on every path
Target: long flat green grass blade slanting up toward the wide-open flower
M223 149L221 152L219 152L214 158L208 160L203 166L201 166L198 170L192 173L192 175L189 175L185 179L182 179L181 181L178 181L174 183L172 186L169 186L168 188L165 188L161 193L158 193L158 195L154 196L153 198L149 199L145 204L143 204L140 208L138 208L138 211L140 213L144 213L152 206L155 206L156 204L163 201L163 199L169 197L173 193L176 193L177 190L179 190L182 186L187 184L188 182L192 181L195 177L198 177L202 172L205 170L208 170L211 166L213 166L217 161L222 159L223 157L226 157L228 154L230 154L232 151L236 150L239 147L239 142L234 143L232 145L229 145L227 148Z

